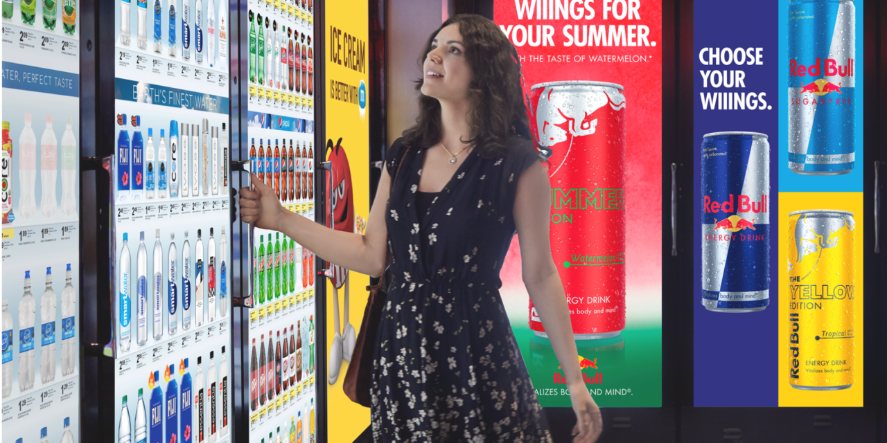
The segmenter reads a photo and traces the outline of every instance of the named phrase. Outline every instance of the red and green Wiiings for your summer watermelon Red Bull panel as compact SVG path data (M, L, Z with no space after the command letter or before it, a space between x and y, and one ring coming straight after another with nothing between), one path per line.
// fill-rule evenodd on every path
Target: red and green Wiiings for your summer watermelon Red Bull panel
M549 153L552 255L585 385L601 407L660 407L662 3L499 0L494 12ZM569 407L517 237L500 278L539 404Z

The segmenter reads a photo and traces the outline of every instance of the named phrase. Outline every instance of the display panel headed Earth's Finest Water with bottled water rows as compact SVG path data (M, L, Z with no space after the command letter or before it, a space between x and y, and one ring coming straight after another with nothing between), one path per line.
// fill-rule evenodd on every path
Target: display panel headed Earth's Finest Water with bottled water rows
M115 435L229 441L227 2L114 7Z

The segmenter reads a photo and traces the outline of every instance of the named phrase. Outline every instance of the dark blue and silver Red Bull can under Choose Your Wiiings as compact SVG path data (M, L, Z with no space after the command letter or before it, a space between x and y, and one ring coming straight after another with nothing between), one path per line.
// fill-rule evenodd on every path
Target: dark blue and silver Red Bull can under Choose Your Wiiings
M770 144L756 132L703 137L703 306L770 304Z

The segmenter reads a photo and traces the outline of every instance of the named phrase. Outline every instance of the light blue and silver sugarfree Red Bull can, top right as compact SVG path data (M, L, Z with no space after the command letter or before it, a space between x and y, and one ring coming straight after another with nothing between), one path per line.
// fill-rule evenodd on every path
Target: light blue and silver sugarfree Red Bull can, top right
M789 169L796 174L853 169L855 35L853 0L789 3Z

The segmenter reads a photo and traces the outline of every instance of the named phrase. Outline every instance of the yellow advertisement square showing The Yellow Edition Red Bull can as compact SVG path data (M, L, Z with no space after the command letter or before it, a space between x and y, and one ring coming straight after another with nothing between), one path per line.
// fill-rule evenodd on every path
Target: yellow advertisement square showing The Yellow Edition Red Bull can
M779 406L863 406L862 197L779 194Z

